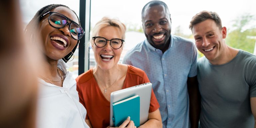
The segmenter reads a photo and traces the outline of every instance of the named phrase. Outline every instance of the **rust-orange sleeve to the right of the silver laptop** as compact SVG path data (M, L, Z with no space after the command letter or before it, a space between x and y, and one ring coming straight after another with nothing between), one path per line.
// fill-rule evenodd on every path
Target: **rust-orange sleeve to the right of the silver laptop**
M147 83L150 82L147 74L144 72L143 74L143 82ZM157 98L155 96L155 93L153 89L151 90L151 98L150 98L150 106L149 106L149 113L156 111L160 107Z

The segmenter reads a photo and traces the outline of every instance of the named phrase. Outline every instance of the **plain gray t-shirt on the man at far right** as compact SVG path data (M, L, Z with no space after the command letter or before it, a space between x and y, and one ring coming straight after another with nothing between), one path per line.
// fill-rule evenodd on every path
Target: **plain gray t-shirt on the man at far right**
M256 56L239 50L226 64L198 61L200 128L253 128L250 97L256 97Z

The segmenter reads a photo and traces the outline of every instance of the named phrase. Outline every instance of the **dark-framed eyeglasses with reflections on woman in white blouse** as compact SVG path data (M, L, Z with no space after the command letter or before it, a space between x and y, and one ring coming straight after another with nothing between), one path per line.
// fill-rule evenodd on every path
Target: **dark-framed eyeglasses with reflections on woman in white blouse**
M50 14L48 18L48 22L54 28L57 28L57 29L64 28L67 24L69 24L69 28L68 28L69 33L75 40L80 40L83 37L83 35L85 35L85 32L80 25L78 25L71 19L67 18L63 14L50 11L45 13L41 17L47 14ZM70 21L70 23L68 21Z

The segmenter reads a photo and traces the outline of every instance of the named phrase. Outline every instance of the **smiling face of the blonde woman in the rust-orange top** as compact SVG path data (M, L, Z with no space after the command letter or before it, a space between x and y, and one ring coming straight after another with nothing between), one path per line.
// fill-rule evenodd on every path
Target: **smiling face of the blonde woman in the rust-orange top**
M107 40L114 38L122 39L122 34L118 27L107 26L100 29L96 34L96 37L104 37ZM111 69L117 66L122 53L122 47L119 49L113 49L110 46L109 41L107 41L107 44L102 48L98 48L92 44L92 49L97 66L103 70Z

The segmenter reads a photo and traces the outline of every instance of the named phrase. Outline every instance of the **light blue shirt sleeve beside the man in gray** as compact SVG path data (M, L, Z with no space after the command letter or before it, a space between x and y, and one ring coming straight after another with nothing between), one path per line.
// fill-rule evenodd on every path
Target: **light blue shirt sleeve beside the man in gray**
M192 43L192 63L188 77L194 77L197 74L197 50L194 43Z

